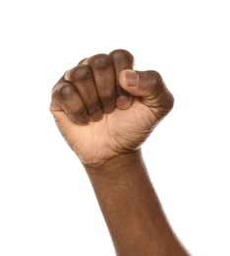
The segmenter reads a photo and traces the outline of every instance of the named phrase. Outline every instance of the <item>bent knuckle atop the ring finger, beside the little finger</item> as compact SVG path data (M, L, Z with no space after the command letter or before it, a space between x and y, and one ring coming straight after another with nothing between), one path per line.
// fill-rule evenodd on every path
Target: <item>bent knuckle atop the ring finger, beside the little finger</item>
M79 65L65 74L65 81L73 82L83 81L92 78L92 71L88 65Z

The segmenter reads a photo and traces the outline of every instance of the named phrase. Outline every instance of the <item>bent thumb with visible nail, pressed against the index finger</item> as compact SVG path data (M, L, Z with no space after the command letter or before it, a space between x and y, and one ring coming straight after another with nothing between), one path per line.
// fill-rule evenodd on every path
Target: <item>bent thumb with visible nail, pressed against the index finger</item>
M120 86L141 101L161 119L173 107L174 97L156 71L123 70L119 76Z

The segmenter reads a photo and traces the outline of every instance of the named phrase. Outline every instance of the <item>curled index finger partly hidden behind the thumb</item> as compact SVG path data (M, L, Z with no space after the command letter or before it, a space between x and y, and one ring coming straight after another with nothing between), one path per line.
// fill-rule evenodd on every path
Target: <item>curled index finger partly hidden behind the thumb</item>
M119 76L122 70L133 69L134 57L129 51L124 49L114 50L109 53L109 56L113 59L116 71L117 107L126 109L132 104L133 98L120 86Z

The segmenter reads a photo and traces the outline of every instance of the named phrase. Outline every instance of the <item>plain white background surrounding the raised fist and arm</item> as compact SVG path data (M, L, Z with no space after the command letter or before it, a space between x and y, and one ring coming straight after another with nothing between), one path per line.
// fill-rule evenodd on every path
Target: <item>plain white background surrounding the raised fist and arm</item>
M176 99L144 144L170 223L193 255L230 255L228 4L1 1L0 255L114 255L48 108L66 70L116 48L160 72Z

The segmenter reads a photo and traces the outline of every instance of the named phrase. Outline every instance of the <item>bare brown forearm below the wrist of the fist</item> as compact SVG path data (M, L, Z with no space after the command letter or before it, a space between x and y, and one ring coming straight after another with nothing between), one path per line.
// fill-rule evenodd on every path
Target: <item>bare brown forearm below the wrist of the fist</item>
M85 167L117 255L188 255L167 223L141 151Z

